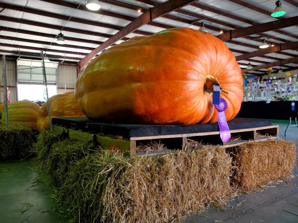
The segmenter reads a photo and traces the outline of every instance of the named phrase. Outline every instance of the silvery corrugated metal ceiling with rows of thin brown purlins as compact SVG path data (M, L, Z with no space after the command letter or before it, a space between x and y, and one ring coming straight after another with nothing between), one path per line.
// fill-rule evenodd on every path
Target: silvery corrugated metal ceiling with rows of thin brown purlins
M61 4L63 2L64 4ZM20 50L23 55L34 57L39 54L40 49L46 49L50 59L64 60L65 57L66 61L78 62L93 48L99 46L100 42L105 42L109 37L116 34L121 27L127 26L134 18L141 15L137 12L138 8L148 10L149 7L154 7L162 2L165 1L105 0L100 1L100 10L91 12L85 7L83 0L0 0L0 10L4 8L0 13L0 26L15 29L5 31L0 27L0 51L6 55L17 55L17 51ZM72 4L76 4L76 7L81 4L81 8L76 9ZM253 5L257 9L251 9L246 5ZM284 18L298 16L298 7L286 1L282 1L282 6L287 11ZM137 29L141 31L141 34L134 32L128 34L126 38L156 33L165 28L177 26L199 29L200 21L190 24L191 21L198 18L204 18L208 31L217 36L219 29L228 32L228 30L248 27L257 23L276 21L277 18L270 16L274 7L275 0L201 0L182 7L180 10L170 12L167 16L154 19L153 23L145 24ZM70 17L72 19L67 21ZM79 20L75 21L75 19ZM62 28L66 45L57 45L54 37ZM289 36L289 34L292 35ZM298 27L283 28L279 32L263 32L263 35L268 36L267 41L273 44L296 42L298 41ZM13 39L12 37L21 39ZM70 37L71 40L68 40ZM253 39L254 37L257 39ZM261 44L260 39L262 37L259 35L252 34L227 41L226 45L235 56L239 56L258 50L258 46ZM36 43L34 40L41 42ZM86 43L86 41L89 42ZM97 42L90 43L91 41ZM122 41L124 40L119 40L116 44ZM289 59L298 55L298 52L294 50L283 52L284 54L270 53L238 62L241 68L245 68L249 62L257 66L262 65L262 62L271 63L275 60ZM288 64L283 69L296 66L298 65ZM279 66L274 68L279 69ZM256 73L256 71L253 72Z

